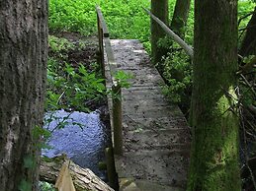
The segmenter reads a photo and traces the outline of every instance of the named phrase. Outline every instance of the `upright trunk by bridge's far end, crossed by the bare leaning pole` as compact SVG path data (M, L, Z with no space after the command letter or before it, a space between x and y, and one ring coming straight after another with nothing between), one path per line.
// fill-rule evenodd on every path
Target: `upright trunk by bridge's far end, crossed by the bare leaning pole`
M151 13L168 25L168 0L151 0ZM159 46L158 41L165 36L161 27L151 19L151 55L152 61L157 65L158 71L163 70L161 59L167 54L166 47Z

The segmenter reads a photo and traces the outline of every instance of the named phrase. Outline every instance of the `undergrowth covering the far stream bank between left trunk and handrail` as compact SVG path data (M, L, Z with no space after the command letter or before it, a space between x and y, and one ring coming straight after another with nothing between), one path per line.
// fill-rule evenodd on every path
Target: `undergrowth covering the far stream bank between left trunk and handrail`
M104 99L104 79L97 67L68 62L68 53L81 51L86 44L74 44L56 36L49 36L48 41L50 56L47 64L46 110L90 111L91 102Z

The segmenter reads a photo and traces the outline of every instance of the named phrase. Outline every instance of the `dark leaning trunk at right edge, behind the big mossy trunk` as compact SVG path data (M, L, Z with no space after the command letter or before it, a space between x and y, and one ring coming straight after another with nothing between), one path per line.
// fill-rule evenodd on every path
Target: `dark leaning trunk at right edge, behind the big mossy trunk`
M247 31L241 43L239 54L242 56L256 55L256 7L247 25Z

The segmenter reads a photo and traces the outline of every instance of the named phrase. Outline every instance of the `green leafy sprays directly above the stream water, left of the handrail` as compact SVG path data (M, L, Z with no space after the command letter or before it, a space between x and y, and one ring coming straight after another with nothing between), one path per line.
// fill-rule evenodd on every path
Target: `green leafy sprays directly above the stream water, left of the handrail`
M89 73L80 64L74 68L68 63L57 71L59 63L49 59L48 62L48 91L46 99L47 110L70 109L89 111L86 101L102 99L105 95L104 79Z

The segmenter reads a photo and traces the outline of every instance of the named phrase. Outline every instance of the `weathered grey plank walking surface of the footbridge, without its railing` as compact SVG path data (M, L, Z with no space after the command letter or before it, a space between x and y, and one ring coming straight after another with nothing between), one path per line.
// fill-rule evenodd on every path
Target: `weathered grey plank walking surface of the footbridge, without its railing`
M115 69L134 76L131 87L122 89L124 155L115 156L121 190L182 190L190 153L186 120L162 95L163 81L142 44L126 39L113 39L111 44ZM110 74L106 64L109 88Z

